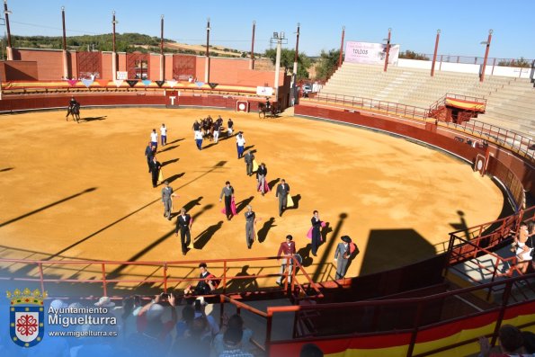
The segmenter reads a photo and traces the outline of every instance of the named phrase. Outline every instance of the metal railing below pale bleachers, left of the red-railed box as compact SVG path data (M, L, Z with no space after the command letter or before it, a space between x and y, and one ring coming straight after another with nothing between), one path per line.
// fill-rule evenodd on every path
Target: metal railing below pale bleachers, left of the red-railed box
M353 108L381 112L384 114L391 114L416 120L426 120L427 114L429 112L425 108L419 108L413 105L380 101L377 99L355 97L343 94L329 94L324 92L317 94L316 96L314 96L314 98L310 98L309 101L351 105Z

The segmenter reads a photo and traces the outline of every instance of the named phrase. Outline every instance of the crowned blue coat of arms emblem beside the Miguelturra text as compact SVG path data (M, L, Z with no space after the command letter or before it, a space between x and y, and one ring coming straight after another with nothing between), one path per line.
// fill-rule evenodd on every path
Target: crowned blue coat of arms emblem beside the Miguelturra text
M7 299L11 299L9 307L9 333L13 343L22 347L39 344L44 335L43 299L47 292L41 294L39 289L31 291L15 289L7 291Z

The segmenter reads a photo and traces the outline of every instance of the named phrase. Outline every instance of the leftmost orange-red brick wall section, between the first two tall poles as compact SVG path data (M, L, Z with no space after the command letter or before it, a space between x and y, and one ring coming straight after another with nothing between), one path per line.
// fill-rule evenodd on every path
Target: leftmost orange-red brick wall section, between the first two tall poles
M37 62L40 80L60 80L63 76L63 53L61 50L13 49L13 58Z

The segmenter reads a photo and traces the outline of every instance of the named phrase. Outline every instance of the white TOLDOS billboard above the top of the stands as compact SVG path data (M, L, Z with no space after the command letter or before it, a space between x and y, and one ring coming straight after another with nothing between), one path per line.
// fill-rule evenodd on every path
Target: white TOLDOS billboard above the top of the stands
M399 45L390 45L388 63L396 64L399 58ZM385 62L387 45L382 43L353 42L345 44L345 61L351 63L366 63L379 65Z

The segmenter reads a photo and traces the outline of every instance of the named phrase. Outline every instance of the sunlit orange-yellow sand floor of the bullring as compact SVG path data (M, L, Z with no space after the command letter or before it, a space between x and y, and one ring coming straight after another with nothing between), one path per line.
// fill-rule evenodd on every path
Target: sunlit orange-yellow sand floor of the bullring
M236 158L235 138L197 150L192 122L207 114L221 114L225 123L233 118L236 129L245 132L246 147L265 162L268 182L285 178L291 195L299 198L298 209L279 218L274 192L265 197L255 192L244 160ZM496 219L504 204L495 184L469 165L370 130L210 109L91 109L82 112L86 120L79 124L64 115L0 117L2 258L183 260L179 238L171 234L174 220L163 218L161 186L152 188L144 156L151 129L159 133L162 122L169 128L169 144L158 147L157 158L180 196L174 212L185 205L195 218L188 260L272 256L290 233L307 271L321 281L333 278L335 245L349 235L361 253L348 275L377 272L440 253L450 231ZM245 245L245 210L231 221L220 213L218 197L227 180L238 206L250 201L263 219L262 243L255 242L252 250ZM329 222L317 257L309 255L305 237L313 210ZM260 265L251 264L248 273L261 272ZM4 274L35 273L20 264L1 268ZM78 269L77 277L91 278L100 268Z

